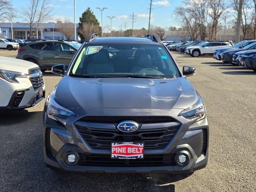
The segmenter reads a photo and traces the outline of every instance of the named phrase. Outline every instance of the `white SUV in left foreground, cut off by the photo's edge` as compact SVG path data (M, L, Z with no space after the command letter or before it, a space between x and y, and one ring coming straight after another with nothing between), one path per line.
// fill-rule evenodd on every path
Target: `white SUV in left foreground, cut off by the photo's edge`
M38 65L0 57L0 110L29 108L44 97L44 79Z

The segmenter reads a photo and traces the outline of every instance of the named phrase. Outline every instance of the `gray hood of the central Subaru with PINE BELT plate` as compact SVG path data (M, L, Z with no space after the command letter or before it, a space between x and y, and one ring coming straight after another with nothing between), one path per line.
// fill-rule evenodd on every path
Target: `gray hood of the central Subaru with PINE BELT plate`
M186 109L198 100L186 78L75 78L65 76L54 99L67 108Z

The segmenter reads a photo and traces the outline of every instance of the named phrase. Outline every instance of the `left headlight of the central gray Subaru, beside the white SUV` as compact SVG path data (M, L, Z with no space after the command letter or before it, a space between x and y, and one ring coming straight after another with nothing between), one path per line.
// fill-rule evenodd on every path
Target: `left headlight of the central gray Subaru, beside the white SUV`
M71 110L64 108L63 106L58 104L54 100L54 95L55 95L55 88L54 88L54 90L52 90L52 92L49 94L49 96L46 100L46 107L47 107L46 114L47 114L48 118L58 121L57 117L68 118L72 115L76 115Z

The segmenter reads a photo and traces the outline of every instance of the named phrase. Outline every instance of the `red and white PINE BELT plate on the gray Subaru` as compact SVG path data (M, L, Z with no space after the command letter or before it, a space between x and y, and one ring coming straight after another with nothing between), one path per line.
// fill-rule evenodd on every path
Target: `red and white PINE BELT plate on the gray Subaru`
M143 142L111 142L112 159L143 159Z

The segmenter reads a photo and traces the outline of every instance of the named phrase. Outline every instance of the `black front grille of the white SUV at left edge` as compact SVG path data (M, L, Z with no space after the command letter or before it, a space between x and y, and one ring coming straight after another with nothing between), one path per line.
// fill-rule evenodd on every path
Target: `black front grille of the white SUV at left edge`
M30 74L29 79L33 85L34 90L38 90L44 86L44 78L40 68L30 69L28 74Z

